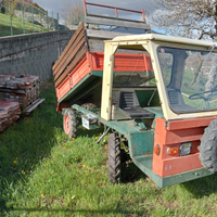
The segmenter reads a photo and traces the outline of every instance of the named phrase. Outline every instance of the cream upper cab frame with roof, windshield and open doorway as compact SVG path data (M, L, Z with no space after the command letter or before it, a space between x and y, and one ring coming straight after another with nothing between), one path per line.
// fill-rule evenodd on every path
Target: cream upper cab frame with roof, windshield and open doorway
M131 71L116 72L115 53L123 49L141 56ZM101 117L152 118L153 107L166 120L216 115L216 50L214 42L153 34L105 42Z

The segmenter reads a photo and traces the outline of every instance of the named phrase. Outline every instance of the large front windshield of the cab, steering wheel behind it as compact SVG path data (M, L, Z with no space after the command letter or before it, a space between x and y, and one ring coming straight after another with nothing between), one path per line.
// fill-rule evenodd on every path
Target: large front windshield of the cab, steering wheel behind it
M174 112L217 108L217 53L213 49L195 51L159 47L157 51Z

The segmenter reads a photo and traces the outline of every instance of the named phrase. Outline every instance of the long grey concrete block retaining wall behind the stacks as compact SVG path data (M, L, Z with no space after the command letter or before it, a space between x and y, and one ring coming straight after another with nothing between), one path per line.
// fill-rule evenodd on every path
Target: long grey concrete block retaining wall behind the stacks
M58 60L74 30L28 34L0 38L0 75L39 75L52 77L52 64Z

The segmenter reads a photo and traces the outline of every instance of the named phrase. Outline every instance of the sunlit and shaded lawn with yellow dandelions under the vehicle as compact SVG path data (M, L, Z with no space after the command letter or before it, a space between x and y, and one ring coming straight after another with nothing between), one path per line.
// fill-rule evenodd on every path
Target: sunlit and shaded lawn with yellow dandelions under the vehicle
M0 136L0 216L216 216L217 176L163 190L133 164L123 182L107 178L107 137L79 128L68 140L55 112L54 89L46 102Z

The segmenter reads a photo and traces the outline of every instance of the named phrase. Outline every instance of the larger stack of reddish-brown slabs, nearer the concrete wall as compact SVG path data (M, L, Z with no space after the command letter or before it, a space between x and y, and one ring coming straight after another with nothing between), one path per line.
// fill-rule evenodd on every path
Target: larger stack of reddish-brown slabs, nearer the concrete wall
M0 75L0 100L18 102L22 110L39 98L39 76Z

